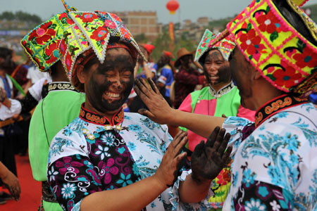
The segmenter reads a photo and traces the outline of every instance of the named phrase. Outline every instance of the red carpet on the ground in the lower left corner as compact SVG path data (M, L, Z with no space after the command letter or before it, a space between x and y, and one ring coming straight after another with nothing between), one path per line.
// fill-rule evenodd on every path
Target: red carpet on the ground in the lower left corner
M1 211L35 211L41 201L41 182L35 181L28 156L15 155L18 179L21 186L20 200L7 200L6 204L0 205ZM3 189L0 188L0 191ZM8 190L4 190L8 193Z

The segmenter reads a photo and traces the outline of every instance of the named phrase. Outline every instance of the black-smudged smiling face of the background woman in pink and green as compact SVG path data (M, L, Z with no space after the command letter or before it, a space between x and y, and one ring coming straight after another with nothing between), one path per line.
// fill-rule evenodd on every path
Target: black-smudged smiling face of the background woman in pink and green
M230 82L229 62L223 58L220 51L213 49L208 52L204 60L204 74L211 86Z

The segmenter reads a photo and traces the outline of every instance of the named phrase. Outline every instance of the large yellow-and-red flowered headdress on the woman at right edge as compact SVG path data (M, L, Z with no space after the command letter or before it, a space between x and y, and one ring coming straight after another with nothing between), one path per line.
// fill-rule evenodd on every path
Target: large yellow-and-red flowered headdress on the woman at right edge
M296 4L290 0L254 0L217 39L230 34L268 82L305 98L317 91L317 28ZM283 15L285 11L292 16ZM291 23L305 29L297 30Z

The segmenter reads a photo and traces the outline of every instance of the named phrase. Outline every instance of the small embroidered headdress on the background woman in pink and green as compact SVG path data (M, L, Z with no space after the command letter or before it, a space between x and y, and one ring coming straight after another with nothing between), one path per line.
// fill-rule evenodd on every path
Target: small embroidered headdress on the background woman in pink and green
M203 37L197 47L196 55L194 60L203 63L204 55L211 49L218 49L223 55L225 60L229 60L230 53L235 49L235 42L232 36L223 37L223 39L218 39L221 34L214 34L209 30L205 30Z

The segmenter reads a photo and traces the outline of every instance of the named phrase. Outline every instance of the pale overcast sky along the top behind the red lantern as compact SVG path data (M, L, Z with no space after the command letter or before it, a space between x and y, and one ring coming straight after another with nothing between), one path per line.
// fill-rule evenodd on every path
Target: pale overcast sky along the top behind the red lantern
M180 8L175 15L166 9L168 0L66 0L78 11L156 11L159 23L207 16L209 18L226 18L240 13L251 0L178 0ZM61 0L0 0L2 11L26 11L37 14L43 20L55 13L64 11ZM306 5L317 4L310 0Z

